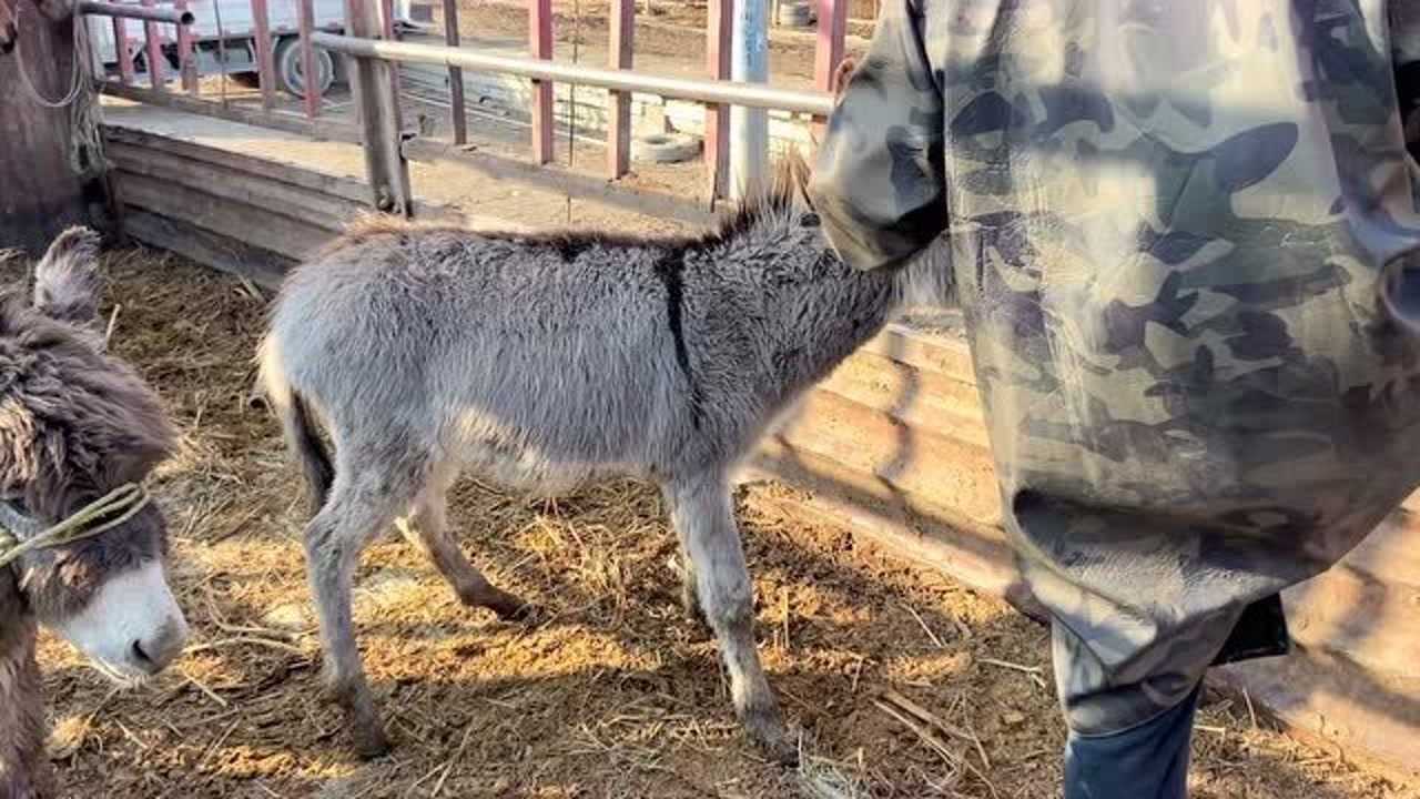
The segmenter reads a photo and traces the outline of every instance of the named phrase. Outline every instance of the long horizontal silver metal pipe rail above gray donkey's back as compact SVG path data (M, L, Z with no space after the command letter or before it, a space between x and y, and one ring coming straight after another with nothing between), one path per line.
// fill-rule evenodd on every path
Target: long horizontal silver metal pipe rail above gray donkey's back
M788 91L755 84L648 75L630 70L601 70L537 58L487 55L467 48L354 38L320 31L311 36L311 41L317 47L356 58L464 67L480 73L501 73L540 81L594 85L616 91L639 91L674 100L724 102L727 105L770 108L816 117L828 117L834 111L834 98L824 91Z

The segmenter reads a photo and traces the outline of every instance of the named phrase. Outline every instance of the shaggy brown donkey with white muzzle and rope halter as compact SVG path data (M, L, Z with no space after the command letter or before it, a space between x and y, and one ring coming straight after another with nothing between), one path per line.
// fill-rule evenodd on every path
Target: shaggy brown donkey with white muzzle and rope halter
M3 556L109 490L141 482L175 434L158 397L104 351L98 236L65 230L36 267L33 304L0 301L0 540ZM37 624L119 682L182 653L187 623L166 581L162 513L0 566L0 798L48 796Z

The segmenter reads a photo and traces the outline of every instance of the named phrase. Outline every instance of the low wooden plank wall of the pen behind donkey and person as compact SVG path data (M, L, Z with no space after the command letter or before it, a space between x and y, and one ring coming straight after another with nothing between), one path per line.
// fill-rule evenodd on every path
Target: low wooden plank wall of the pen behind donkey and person
M136 131L106 138L129 235L267 286L368 205L358 181ZM778 502L795 512L1034 610L1001 533L971 358L950 318L889 327L767 438L744 479L781 481L794 490ZM1353 758L1420 772L1417 512L1420 496L1287 594L1292 657L1214 678Z

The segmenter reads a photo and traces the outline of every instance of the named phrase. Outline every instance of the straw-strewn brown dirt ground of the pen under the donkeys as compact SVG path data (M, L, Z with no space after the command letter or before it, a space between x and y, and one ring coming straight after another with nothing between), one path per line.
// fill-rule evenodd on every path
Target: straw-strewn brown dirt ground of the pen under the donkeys
M775 486L744 489L738 508L760 650L805 734L802 768L764 762L740 735L716 647L676 601L655 492L616 483L530 502L471 481L452 508L464 547L545 620L524 628L470 611L398 536L376 542L356 624L398 748L356 761L321 697L300 481L277 427L248 402L266 299L153 252L116 252L108 267L114 348L183 431L155 492L195 634L169 672L132 692L45 636L67 796L1056 795L1064 731L1045 630L792 518ZM1292 742L1237 699L1210 697L1198 724L1198 798L1420 796Z

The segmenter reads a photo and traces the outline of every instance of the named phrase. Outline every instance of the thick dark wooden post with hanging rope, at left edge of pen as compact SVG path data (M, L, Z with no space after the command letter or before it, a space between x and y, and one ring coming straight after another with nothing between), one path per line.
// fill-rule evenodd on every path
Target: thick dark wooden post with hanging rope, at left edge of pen
M33 9L28 9L33 11ZM0 57L0 246L21 247L38 256L70 225L106 226L104 163L92 152L80 154L75 172L72 146L98 131L77 131L85 117L72 108L45 108L36 102L20 78L20 58L34 88L51 100L70 91L74 58L74 16L61 21L31 13L18 26L17 48ZM84 92L97 91L94 85ZM78 102L98 102L92 94ZM87 163L85 163L87 162Z

